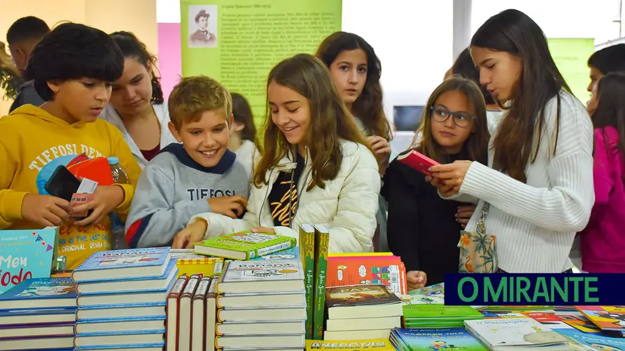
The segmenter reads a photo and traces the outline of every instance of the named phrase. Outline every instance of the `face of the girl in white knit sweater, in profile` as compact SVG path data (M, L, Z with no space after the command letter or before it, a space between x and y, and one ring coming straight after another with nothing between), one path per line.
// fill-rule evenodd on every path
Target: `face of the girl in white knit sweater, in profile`
M509 101L521 77L523 65L520 58L506 51L471 46L471 56L480 70L480 83L500 102Z

